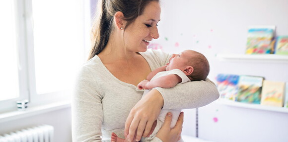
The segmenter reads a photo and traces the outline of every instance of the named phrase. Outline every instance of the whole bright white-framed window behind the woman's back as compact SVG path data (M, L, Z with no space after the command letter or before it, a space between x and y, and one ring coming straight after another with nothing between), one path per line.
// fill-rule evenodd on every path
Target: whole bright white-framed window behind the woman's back
M0 112L23 99L70 99L87 59L83 7L82 0L0 0Z

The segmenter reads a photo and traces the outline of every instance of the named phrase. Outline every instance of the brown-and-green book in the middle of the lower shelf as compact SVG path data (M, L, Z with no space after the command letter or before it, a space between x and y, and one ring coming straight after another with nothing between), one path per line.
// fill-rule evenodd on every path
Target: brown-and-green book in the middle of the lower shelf
M263 80L261 76L240 75L235 101L260 104Z

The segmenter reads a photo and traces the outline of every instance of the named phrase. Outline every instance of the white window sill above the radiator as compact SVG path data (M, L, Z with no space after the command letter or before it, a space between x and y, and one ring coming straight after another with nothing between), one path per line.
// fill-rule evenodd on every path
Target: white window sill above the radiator
M5 112L0 114L0 123L17 120L25 117L31 117L34 115L39 115L55 110L65 109L71 107L71 101L61 101L50 103L41 106L31 106L24 110L24 111L12 111L12 112Z

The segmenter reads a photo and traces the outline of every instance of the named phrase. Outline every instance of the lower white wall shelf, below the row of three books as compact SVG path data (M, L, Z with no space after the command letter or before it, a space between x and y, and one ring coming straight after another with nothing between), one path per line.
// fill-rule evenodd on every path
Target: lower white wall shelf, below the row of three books
M225 99L218 99L216 102L219 104L224 104L224 105L234 106L234 107L288 113L288 108L284 108L284 107L264 106L260 104L247 104L247 103L235 102L235 101L230 101L230 100L225 100Z

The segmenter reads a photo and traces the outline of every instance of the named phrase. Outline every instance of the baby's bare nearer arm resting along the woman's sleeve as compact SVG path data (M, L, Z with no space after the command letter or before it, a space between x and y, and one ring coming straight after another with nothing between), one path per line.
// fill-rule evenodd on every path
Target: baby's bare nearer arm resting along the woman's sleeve
M139 89L152 89L154 87L172 88L182 81L181 77L176 74L168 74L152 81L143 80L138 84Z

